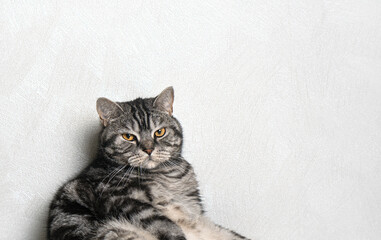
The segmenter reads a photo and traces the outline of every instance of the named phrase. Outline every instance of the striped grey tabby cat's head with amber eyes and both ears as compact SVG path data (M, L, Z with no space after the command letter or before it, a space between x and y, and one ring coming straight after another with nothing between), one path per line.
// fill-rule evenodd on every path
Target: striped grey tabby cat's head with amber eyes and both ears
M172 116L174 92L166 88L155 98L129 102L97 100L104 126L104 154L119 164L152 169L181 154L182 130Z

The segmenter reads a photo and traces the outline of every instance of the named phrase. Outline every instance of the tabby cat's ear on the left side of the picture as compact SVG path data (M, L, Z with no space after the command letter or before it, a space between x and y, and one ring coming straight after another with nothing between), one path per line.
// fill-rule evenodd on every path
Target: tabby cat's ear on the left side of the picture
M97 112L103 126L106 127L113 118L119 116L123 112L123 109L117 103L107 98L98 98Z

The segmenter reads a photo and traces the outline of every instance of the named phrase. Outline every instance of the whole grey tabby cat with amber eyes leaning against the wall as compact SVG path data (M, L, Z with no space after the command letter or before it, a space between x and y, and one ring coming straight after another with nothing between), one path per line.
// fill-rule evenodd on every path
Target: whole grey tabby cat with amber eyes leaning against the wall
M56 193L49 240L247 239L204 215L173 101L172 87L155 98L97 100L98 156Z

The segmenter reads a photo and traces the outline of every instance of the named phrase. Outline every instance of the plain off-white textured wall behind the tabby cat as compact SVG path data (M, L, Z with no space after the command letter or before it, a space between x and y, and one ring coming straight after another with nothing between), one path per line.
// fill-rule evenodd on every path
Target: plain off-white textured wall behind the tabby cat
M45 239L98 97L174 86L208 216L381 239L381 1L1 1L0 239Z

